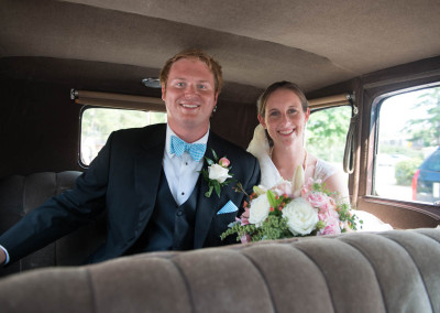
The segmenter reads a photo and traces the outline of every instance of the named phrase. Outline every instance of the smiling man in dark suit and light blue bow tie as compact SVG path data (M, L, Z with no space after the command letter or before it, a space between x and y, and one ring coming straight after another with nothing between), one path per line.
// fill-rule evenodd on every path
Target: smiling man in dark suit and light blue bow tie
M230 161L229 174L250 194L260 182L251 154L216 136L209 117L222 85L221 66L201 51L184 51L161 72L166 125L113 132L75 187L53 197L0 236L0 263L13 262L94 220L106 211L107 241L88 262L157 250L221 245L244 195L209 191L202 158ZM193 143L193 145L189 145Z

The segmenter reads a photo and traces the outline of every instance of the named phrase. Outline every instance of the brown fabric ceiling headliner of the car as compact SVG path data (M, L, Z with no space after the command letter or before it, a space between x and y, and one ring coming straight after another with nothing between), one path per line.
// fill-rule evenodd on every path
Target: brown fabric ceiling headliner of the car
M157 76L172 55L199 47L220 61L227 87L286 79L310 91L440 54L438 0L0 3L0 65L43 57Z

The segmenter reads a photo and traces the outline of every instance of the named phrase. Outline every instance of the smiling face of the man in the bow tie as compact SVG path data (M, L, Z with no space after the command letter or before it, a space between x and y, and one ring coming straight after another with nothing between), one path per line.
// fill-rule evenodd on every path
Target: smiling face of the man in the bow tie
M178 60L169 69L166 88L162 86L168 125L178 134L188 130L205 134L217 96L213 74L204 62Z

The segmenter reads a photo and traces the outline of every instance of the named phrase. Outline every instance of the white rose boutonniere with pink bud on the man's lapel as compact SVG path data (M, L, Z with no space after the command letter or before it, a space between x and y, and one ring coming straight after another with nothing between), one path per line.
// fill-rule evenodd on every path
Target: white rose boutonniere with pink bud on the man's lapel
M229 171L232 169L232 166L229 166L231 162L226 156L218 160L216 152L212 149L211 151L215 161L205 156L209 166L208 170L206 169L201 170L204 179L209 186L209 191L205 193L205 196L210 197L212 191L216 191L216 194L220 197L221 187L228 185L230 182L233 181L233 180L228 180L232 177L232 175L229 174Z

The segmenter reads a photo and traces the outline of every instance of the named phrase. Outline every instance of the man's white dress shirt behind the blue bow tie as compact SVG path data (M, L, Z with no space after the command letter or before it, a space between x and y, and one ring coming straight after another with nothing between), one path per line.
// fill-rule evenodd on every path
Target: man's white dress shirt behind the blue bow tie
M194 161L188 152L184 152L180 156L170 153L170 138L177 136L170 127L166 126L166 142L164 152L164 172L169 190L176 204L184 204L191 195L200 170L204 166L204 158L200 161ZM209 129L207 133L195 142L188 143L207 143ZM177 136L178 137L178 136Z

